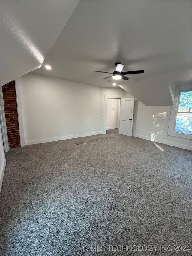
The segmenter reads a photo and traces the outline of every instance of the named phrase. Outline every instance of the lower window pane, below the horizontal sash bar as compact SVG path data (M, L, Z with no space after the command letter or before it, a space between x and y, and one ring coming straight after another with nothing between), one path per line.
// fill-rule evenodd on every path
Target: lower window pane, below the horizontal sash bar
M175 132L192 134L192 113L177 113Z

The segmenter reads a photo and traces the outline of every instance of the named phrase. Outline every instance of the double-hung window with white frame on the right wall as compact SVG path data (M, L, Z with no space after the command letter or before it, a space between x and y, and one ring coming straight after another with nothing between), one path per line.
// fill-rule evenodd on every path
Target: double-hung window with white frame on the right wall
M168 135L192 138L192 91L191 85L176 87L174 104L171 108Z

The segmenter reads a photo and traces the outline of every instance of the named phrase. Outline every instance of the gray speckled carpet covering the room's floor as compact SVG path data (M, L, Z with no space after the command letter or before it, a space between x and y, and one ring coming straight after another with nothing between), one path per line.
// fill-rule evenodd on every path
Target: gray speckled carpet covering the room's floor
M109 135L6 153L0 255L191 255L191 152Z

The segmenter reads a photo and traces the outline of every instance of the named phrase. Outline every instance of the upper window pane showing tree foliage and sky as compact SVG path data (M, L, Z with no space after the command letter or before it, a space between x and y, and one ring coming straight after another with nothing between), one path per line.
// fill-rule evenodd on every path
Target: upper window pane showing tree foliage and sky
M192 91L181 92L179 112L192 112Z

